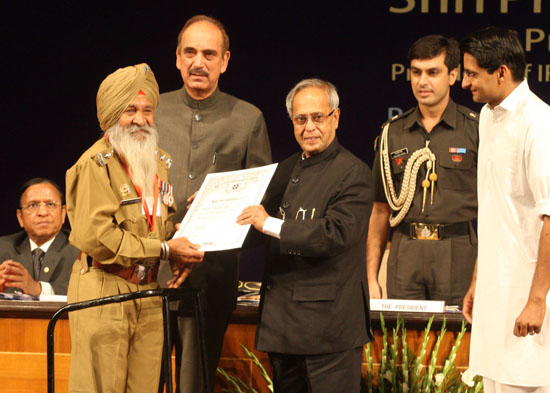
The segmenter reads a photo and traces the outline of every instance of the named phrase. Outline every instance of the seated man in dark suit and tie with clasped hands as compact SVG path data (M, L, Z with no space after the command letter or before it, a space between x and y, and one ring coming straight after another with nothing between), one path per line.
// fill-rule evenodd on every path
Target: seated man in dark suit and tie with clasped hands
M78 249L69 244L65 201L57 184L34 178L21 187L17 220L24 231L0 237L0 291L66 295Z

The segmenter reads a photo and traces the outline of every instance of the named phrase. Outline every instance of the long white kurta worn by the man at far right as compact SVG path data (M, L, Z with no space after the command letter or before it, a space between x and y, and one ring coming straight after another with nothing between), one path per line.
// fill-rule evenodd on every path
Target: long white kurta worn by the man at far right
M523 81L479 122L478 275L470 369L509 385L550 385L550 296L540 334L514 336L550 215L550 107Z

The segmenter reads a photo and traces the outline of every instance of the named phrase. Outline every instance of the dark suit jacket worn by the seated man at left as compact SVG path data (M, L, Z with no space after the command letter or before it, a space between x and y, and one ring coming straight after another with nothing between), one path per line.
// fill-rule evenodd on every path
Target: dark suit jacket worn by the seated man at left
M69 243L69 231L62 229L44 255L38 281L49 282L56 295L66 295L69 276L78 253L78 249ZM0 263L8 259L21 263L32 275L31 245L26 232L0 237Z

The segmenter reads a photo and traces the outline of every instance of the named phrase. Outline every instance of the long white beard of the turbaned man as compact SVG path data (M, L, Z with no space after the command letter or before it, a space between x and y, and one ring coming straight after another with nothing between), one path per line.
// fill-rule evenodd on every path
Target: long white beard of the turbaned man
M134 185L141 188L144 197L153 196L157 173L157 129L147 124L123 127L116 123L106 134L126 161Z

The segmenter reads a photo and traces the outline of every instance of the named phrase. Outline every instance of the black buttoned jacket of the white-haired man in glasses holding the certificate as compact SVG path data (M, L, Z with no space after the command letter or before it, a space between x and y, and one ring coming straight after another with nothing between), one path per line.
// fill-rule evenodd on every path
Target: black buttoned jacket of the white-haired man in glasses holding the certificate
M337 140L279 164L262 202L284 223L268 240L257 349L316 355L368 342L372 198L370 169Z

